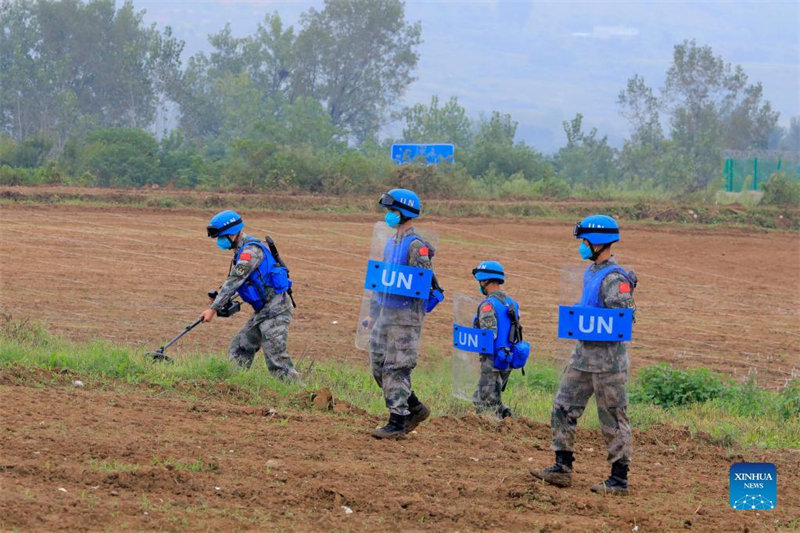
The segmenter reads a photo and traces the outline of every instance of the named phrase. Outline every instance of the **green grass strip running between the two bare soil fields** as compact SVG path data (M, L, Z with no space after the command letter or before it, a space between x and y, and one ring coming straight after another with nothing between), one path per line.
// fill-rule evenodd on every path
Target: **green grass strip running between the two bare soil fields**
M418 390L437 415L460 416L472 406L453 398L448 354L426 347L426 358L415 372ZM341 363L299 361L305 389L272 378L263 369L239 371L212 355L191 354L175 364L153 363L143 354L106 342L70 343L48 335L36 325L6 321L0 332L0 369L21 381L58 385L80 375L90 387L148 387L159 394L223 397L234 403L261 407L308 408L314 392L328 387L337 400L382 415L383 398L366 367ZM45 369L48 372L37 372ZM514 373L505 395L512 410L533 420L550 417L560 372L532 361L526 376ZM642 370L631 391L630 418L635 427L654 424L685 426L728 446L800 447L800 382L780 392L759 389L755 383L731 383L705 369L681 371L665 365ZM598 428L594 409L581 424ZM163 462L154 457L154 464ZM213 463L193 460L173 468L213 470ZM98 463L97 468L123 470L125 465Z

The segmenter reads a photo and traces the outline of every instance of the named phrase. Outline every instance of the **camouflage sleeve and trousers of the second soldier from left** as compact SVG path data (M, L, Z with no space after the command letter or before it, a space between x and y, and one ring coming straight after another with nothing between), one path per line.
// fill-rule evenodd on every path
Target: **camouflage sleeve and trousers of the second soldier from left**
M391 238L395 243L414 233L407 228ZM427 245L417 239L408 247L408 266L433 268ZM425 300L415 299L407 308L381 307L373 295L370 316L375 321L369 338L372 376L383 389L390 413L408 415L411 395L411 370L417 366L417 352L425 318Z

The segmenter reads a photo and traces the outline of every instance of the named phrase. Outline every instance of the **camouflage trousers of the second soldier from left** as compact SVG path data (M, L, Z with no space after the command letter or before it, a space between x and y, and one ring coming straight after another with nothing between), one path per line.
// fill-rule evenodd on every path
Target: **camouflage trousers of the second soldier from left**
M369 338L372 376L390 413L408 415L411 370L417 366L421 325L376 324Z

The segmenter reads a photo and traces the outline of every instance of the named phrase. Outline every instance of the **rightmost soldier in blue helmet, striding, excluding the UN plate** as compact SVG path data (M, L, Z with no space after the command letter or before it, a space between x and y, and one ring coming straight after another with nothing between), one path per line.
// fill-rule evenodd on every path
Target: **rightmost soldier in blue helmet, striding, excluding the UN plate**
M635 309L633 289L636 275L626 273L611 255L611 244L619 241L617 222L605 215L584 218L575 225L581 240L579 253L592 261L583 278L582 306ZM628 465L633 453L627 405L628 352L623 342L578 341L572 352L553 402L550 425L556 464L531 469L534 477L556 485L572 484L572 463L578 419L592 394L608 449L611 475L592 487L592 492L628 493Z

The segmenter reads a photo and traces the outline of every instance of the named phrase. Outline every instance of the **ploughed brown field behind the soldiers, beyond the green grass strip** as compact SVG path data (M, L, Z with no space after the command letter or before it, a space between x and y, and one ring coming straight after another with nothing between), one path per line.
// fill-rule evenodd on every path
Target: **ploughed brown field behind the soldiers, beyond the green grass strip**
M229 254L205 236L212 211L5 204L0 308L75 340L154 350L194 321L207 304L206 291L227 273ZM275 238L292 269L299 305L290 335L294 357L364 361L353 337L379 214L243 215L248 231ZM568 224L434 218L425 226L441 237L435 263L449 294L477 296L470 270L486 258L501 260L535 357L568 354L568 343L554 340L556 306L578 294L577 287L564 288L564 272L583 266ZM765 386L797 375L796 233L630 223L622 239L618 259L640 280L634 370L659 361L703 365L739 380L754 375ZM439 357L449 350L448 307L426 322L424 351ZM246 316L203 324L168 353L224 353Z

